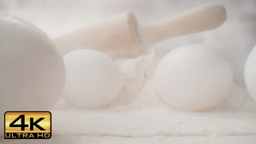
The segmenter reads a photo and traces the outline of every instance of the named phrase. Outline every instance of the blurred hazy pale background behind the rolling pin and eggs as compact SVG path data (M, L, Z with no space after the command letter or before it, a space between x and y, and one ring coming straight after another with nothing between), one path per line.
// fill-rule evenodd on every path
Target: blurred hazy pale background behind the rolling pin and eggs
M0 0L0 13L23 18L55 38L126 11L134 13L139 23L148 23L206 3L224 5L227 20L222 26L167 39L148 51L186 44L210 46L231 62L235 82L244 87L244 65L256 45L256 0Z

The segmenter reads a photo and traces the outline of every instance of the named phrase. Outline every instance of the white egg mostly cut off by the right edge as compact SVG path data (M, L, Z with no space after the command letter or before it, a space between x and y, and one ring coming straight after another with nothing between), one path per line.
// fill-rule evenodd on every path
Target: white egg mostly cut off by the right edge
M256 46L247 58L244 79L249 94L256 101Z

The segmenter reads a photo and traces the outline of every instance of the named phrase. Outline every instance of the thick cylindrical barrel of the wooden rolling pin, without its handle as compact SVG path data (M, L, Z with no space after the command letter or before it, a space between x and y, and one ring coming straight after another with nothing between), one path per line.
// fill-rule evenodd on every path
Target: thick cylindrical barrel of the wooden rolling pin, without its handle
M95 49L104 52L113 59L118 57L138 56L137 38L132 33L131 25L137 22L132 13L104 20L100 23L79 29L54 39L61 54L64 56L75 49Z

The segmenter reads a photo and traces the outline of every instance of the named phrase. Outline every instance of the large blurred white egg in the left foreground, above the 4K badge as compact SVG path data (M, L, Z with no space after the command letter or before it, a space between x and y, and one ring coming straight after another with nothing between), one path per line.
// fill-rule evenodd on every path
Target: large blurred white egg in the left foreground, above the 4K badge
M0 133L6 111L49 111L65 85L53 41L33 24L0 15Z

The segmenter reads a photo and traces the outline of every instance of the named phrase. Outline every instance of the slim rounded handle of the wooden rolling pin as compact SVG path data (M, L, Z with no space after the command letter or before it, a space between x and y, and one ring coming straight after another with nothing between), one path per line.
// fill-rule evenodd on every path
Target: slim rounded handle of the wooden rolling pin
M171 37L214 29L225 20L223 5L211 3L160 22L139 24L137 31L141 46L146 48Z

